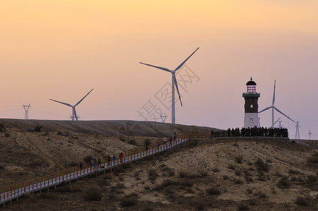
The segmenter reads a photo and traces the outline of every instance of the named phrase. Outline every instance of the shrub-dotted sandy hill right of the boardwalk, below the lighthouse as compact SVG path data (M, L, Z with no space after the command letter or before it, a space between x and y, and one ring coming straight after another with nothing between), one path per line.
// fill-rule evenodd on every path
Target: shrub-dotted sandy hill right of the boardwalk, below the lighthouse
M237 140L237 143L236 141ZM318 210L317 150L288 139L190 141L155 158L28 196L13 210ZM256 162L257 159L262 162ZM267 169L268 167L268 169ZM207 175L205 175L207 174ZM182 176L182 178L180 178ZM204 177L203 177L204 176ZM101 201L85 201L94 187ZM215 192L220 191L220 193ZM67 192L67 193L64 193ZM305 197L307 206L295 204ZM124 198L136 202L123 207ZM57 203L58 202L58 203ZM44 208L43 208L44 207Z

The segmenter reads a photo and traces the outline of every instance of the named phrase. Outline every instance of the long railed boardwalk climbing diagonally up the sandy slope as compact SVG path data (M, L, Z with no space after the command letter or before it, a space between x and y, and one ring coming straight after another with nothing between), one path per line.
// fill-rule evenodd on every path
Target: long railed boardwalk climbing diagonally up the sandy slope
M4 188L0 188L0 204L4 204L11 201L15 198L23 196L24 193L33 193L34 191L42 191L42 189L48 189L52 186L56 187L58 184L61 184L63 181L72 181L75 179L79 179L80 177L85 177L89 174L94 174L97 172L105 172L108 169L116 167L118 165L122 165L127 162L132 162L134 160L139 160L141 158L146 158L149 155L154 155L155 153L160 153L161 151L166 151L173 146L177 146L180 143L184 143L189 139L208 139L209 136L201 136L201 135L187 135L180 136L178 139L174 141L167 140L167 143L163 141L159 141L158 143L154 143L148 148L141 147L134 149L133 151L129 151L124 154L122 159L116 159L108 161L106 158L101 160L101 164L99 165L89 165L85 164L82 167L82 170L79 167L72 167L68 170L63 170L60 172L56 172L53 174L46 175L44 177L39 177L37 179L32 179L29 181L24 181L19 184L15 184L12 186L6 186Z

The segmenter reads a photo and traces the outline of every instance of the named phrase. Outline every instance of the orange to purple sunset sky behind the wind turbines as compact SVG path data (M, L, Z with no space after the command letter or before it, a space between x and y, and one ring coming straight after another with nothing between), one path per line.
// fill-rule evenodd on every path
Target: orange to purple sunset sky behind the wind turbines
M171 122L171 74L183 107L176 123L243 127L246 82L259 110L275 106L318 139L318 1L0 0L0 118ZM295 124L275 121L295 137ZM270 110L260 124L271 125Z

